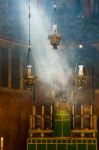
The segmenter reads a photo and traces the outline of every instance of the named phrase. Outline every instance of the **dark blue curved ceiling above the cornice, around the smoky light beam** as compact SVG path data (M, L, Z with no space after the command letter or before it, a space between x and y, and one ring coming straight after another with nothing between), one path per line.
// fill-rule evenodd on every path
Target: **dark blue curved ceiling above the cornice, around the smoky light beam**
M28 0L0 0L0 34L24 40L23 24L19 17L24 15ZM57 20L63 41L95 41L99 39L98 0L31 0L51 19L53 4L57 3ZM27 14L28 15L28 14Z

